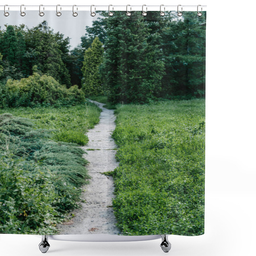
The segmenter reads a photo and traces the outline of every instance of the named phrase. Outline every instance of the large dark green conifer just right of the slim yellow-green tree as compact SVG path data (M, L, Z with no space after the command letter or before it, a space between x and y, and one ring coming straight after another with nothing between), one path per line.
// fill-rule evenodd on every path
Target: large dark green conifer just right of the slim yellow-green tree
M105 18L104 28L107 39L101 72L108 99L113 103L146 103L159 95L164 75L159 34L139 12L131 17L115 15L115 19Z

